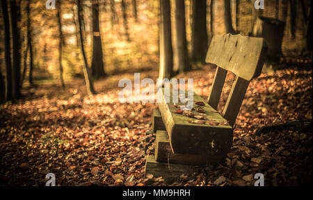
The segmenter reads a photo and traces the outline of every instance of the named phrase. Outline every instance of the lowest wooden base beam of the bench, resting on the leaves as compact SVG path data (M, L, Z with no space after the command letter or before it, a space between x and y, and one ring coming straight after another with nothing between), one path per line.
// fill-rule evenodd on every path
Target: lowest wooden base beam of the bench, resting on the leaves
M192 166L192 165L182 165L182 164L169 164L157 162L154 156L147 156L145 162L145 177L147 174L152 174L154 177L162 176L166 183L174 183L179 180L179 176L182 174L192 173L202 167ZM147 184L153 183L148 181Z

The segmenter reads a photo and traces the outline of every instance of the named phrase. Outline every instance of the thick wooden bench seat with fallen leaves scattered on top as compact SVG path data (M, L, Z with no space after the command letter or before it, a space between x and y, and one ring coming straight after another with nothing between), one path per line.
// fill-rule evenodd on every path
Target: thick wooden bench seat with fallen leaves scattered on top
M205 111L206 121L220 122L216 126L193 124L191 120L195 119L173 113L178 108L172 103L172 90L170 90L169 103L165 101L164 88L158 93L163 99L158 106L170 138L172 152L201 156L225 156L232 145L232 126L222 125L227 124L226 119L216 113L216 110L198 94L193 93L193 107L197 107L195 103L199 101L204 103L204 106L201 107Z

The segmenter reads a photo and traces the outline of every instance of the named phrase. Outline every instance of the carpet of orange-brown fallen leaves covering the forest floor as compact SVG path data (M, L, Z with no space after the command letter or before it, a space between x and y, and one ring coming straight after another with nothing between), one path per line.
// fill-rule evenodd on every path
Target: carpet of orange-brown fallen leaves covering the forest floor
M234 127L234 142L223 163L182 174L171 185L312 185L312 130L257 128L286 122L312 122L312 62L262 74L248 88ZM179 78L194 78L195 92L207 98L215 68L204 66ZM205 76L204 76L205 74ZM115 75L95 83L85 96L82 80L25 88L25 97L0 106L0 185L166 185L145 172L145 139L152 127L153 103L120 103ZM141 78L157 78L157 71ZM219 111L230 92L228 74ZM118 88L118 90L117 90ZM150 180L151 181L151 180Z

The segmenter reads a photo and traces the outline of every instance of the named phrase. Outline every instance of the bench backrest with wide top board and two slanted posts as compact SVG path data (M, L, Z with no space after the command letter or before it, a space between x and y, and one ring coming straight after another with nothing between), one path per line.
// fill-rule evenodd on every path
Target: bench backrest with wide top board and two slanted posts
M223 110L223 117L233 126L252 78L261 74L267 54L263 38L241 35L214 35L205 61L217 66L208 103L217 109L227 71L236 75Z

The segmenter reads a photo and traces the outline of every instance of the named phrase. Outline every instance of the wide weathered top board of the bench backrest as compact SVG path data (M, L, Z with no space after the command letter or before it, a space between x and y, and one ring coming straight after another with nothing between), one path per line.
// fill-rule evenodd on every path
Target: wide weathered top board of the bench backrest
M214 35L205 61L250 81L259 76L267 54L263 38L241 35Z

